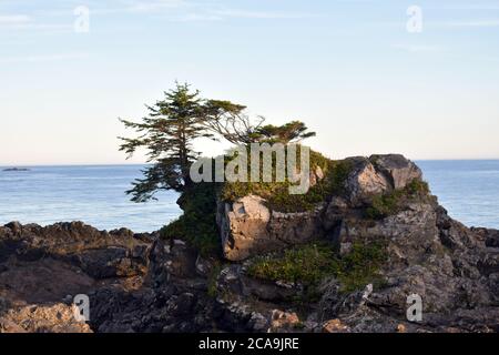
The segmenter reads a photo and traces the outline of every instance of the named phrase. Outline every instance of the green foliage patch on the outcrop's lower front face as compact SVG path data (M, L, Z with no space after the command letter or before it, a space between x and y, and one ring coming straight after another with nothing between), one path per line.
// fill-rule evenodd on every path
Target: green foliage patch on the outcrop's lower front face
M356 242L344 256L339 256L332 244L323 242L257 256L251 262L247 274L259 280L301 283L309 298L317 295L318 284L330 276L342 283L342 291L346 293L368 283L379 285L378 273L385 261L386 251L380 242Z

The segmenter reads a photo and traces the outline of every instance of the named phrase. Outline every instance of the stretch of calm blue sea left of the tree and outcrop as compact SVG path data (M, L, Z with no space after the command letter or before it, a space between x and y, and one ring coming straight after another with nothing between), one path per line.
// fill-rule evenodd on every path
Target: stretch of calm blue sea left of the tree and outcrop
M126 226L152 232L181 213L176 193L159 201L134 203L124 191L140 178L141 165L31 166L0 169L0 224L10 221L41 225L83 221L101 230Z

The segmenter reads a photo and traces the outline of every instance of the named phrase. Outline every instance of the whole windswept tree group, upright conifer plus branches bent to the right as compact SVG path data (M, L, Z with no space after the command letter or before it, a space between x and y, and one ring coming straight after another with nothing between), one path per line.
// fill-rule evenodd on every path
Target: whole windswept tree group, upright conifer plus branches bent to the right
M193 150L193 142L198 138L223 136L233 144L287 144L315 135L299 121L263 125L263 116L253 121L245 109L231 101L202 99L189 84L176 83L164 93L163 100L147 106L149 114L140 122L120 119L138 133L135 138L120 138L120 150L130 158L136 150L145 149L147 163L151 163L142 171L143 178L135 180L126 191L132 201L149 201L161 190L184 192L192 184L191 165L200 155Z

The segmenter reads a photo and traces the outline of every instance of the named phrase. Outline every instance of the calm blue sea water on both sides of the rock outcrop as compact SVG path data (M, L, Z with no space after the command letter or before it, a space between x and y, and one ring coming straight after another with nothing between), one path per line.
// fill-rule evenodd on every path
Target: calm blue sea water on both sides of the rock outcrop
M419 161L434 194L451 216L471 226L499 229L499 161ZM181 213L177 194L130 202L124 191L141 176L140 165L32 166L0 169L0 224L41 225L83 221L98 229L160 229Z

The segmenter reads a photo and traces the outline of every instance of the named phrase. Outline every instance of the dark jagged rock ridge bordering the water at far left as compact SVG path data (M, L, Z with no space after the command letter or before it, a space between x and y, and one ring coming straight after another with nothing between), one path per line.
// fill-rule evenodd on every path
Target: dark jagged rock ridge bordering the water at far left
M128 230L108 233L81 222L47 227L12 222L0 227L0 261L13 255L24 262L50 257L96 278L136 275L146 263L146 244Z

